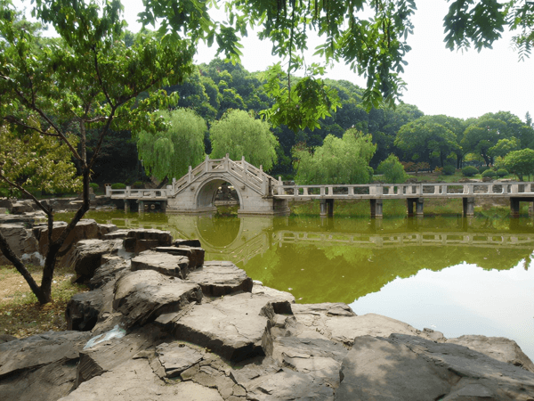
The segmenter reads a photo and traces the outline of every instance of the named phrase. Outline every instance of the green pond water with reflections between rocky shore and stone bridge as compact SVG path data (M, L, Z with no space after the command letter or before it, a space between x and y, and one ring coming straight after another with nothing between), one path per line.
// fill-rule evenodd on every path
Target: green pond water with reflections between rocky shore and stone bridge
M506 210L372 220L321 218L303 206L289 217L89 212L119 227L198 238L208 260L230 260L297 302L344 302L446 337L502 336L534 359L534 227ZM298 209L298 208L297 208ZM71 215L58 215L66 218Z

